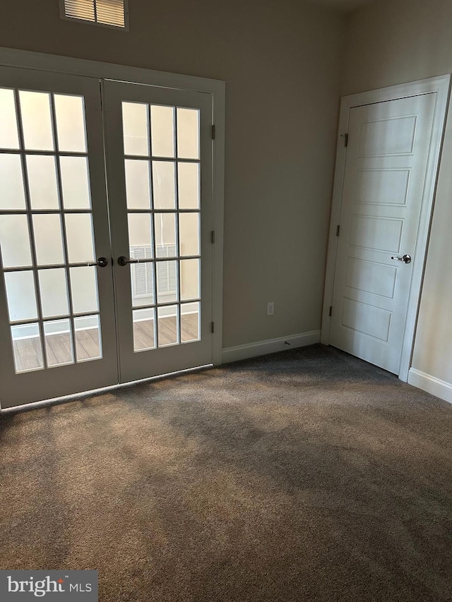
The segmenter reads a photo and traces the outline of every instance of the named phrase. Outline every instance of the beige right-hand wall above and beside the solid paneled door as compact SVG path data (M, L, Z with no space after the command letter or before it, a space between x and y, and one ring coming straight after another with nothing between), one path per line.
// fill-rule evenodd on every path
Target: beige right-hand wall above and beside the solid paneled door
M450 0L391 0L350 17L343 94L452 72ZM413 368L452 383L452 115L427 254Z

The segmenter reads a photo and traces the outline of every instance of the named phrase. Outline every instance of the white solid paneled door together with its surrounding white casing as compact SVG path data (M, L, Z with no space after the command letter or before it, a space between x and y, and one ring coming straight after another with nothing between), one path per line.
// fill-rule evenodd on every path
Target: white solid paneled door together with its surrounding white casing
M348 145L338 146L322 342L403 380L448 86L446 76L343 100L340 131ZM405 253L411 263L397 259Z

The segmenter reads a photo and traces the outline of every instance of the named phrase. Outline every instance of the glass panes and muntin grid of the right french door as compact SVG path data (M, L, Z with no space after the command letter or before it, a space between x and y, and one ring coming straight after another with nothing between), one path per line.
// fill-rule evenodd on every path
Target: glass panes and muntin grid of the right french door
M200 341L200 112L123 101L122 119L129 257L139 262L133 351Z

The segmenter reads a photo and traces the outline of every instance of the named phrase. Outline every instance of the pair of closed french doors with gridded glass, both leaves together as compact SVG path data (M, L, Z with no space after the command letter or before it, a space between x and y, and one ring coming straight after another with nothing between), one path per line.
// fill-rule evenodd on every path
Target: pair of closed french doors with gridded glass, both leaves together
M0 69L3 408L211 362L210 95L102 87Z

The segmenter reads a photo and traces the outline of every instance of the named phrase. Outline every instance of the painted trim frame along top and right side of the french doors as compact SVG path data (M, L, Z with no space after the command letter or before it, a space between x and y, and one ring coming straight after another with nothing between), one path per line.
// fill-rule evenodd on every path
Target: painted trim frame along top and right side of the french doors
M225 195L225 82L179 73L154 71L141 67L102 63L69 56L30 52L0 47L0 65L52 71L66 75L88 76L100 80L119 80L129 83L157 85L177 90L196 90L212 96L212 124L215 126L213 143L213 349L214 365L222 363L222 287L223 287L223 235Z

